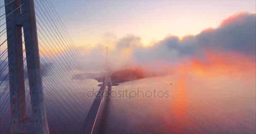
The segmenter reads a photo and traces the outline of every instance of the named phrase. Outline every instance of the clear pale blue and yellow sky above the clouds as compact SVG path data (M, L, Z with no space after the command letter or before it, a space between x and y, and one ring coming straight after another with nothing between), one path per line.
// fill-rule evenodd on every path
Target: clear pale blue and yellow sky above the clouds
M198 34L237 12L256 12L255 0L52 0L77 46L95 46L105 33L141 37L144 46L168 35Z

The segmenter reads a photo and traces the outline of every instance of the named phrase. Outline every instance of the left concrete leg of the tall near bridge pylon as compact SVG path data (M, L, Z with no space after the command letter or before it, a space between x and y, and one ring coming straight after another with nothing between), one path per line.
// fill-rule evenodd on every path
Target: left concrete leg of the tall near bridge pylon
M5 0L9 3L12 0ZM8 69L10 82L10 106L11 106L11 134L23 126L25 107L25 88L24 88L24 67L23 67L23 48L21 26L16 24L16 16L20 15L20 0L15 0L5 6L7 47L8 47ZM17 9L17 10L16 10ZM13 13L11 13L15 10ZM19 124L19 125L18 125ZM17 126L18 125L18 126ZM17 128L17 130L16 130Z

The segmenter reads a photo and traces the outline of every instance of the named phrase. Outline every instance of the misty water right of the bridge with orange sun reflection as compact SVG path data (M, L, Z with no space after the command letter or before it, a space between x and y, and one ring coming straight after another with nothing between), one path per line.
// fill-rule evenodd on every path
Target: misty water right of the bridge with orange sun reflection
M173 85L169 85L170 82ZM93 134L256 132L254 78L161 76L125 82L112 90L122 90L121 87L136 90L138 86L141 90L169 90L170 97L105 100ZM107 110L103 109L106 107Z

